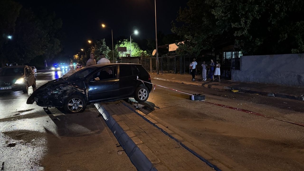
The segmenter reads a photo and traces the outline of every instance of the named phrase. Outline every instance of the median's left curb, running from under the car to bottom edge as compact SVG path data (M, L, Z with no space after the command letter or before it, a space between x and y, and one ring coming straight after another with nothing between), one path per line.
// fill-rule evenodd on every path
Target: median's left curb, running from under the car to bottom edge
M108 113L100 103L95 103L95 107L102 115L105 123L115 135L119 144L123 147L133 165L139 171L157 171L152 162L143 154L140 148L134 143L132 138L123 130L116 120ZM117 118L116 118L117 119Z

